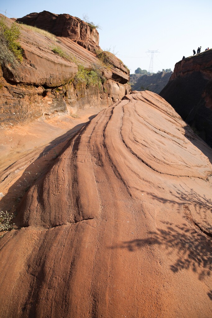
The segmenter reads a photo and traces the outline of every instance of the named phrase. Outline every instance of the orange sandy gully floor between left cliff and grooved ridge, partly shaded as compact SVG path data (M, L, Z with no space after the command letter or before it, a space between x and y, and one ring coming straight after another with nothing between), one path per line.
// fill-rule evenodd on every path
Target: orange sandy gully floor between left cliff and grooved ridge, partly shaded
M0 208L15 211L21 197L44 173L66 142L101 109L0 128ZM6 198L5 198L5 195Z

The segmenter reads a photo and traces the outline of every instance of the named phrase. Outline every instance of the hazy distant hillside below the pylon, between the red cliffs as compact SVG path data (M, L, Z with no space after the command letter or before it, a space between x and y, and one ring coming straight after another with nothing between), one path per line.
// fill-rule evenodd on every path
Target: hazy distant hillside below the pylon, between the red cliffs
M130 84L136 91L151 91L159 94L167 85L173 72L160 72L152 75L130 74Z

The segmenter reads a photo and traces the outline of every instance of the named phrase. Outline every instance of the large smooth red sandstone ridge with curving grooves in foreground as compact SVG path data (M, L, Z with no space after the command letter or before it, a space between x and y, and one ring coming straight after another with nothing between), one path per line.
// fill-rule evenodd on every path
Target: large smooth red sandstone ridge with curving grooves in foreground
M0 240L0 316L211 317L211 159L155 93L101 111Z

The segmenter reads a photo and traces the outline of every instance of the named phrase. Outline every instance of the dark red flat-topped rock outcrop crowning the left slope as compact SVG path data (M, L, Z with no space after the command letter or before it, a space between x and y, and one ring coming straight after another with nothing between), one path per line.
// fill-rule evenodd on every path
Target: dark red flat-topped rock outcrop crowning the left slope
M17 19L17 21L36 26L59 37L71 38L93 53L96 49L99 49L99 32L97 29L69 14L58 15L49 11L33 12Z

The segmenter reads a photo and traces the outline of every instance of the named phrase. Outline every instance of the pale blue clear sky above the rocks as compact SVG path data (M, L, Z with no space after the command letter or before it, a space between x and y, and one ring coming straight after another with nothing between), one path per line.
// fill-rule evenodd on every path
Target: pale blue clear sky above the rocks
M99 46L114 53L130 69L149 70L151 53L153 72L171 68L183 57L193 55L202 46L212 48L211 0L0 0L0 13L24 17L43 10L68 13L99 24Z

